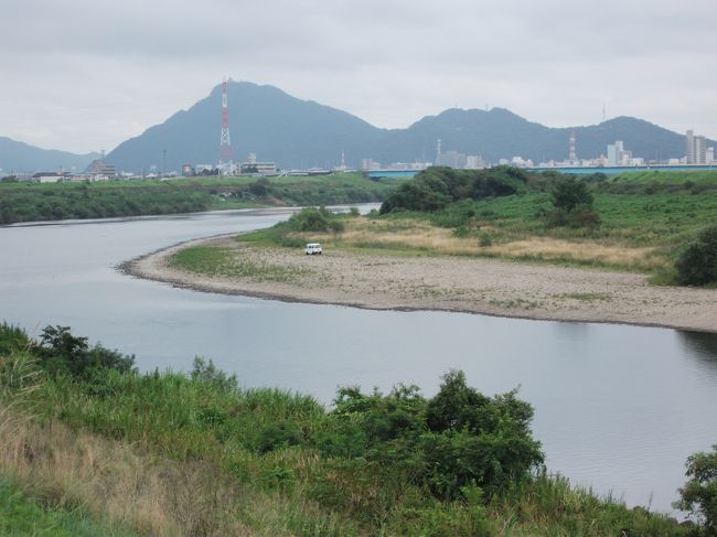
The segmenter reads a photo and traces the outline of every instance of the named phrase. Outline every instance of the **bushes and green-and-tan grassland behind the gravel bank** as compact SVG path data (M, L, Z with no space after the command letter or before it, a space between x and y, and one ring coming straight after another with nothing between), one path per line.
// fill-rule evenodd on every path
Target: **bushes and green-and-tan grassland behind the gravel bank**
M575 179L514 168L431 168L389 194L381 214L332 219L304 211L237 240L287 247L322 241L395 255L630 270L657 283L717 282L717 172Z

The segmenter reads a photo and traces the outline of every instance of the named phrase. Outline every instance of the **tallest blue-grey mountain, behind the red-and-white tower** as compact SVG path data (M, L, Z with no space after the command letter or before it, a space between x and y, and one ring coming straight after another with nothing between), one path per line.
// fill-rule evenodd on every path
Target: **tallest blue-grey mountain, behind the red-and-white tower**
M351 114L300 100L272 86L228 84L229 123L235 160L249 152L281 168L335 165L345 149L352 164L371 154L385 132ZM189 110L174 114L162 125L120 143L106 161L120 170L140 171L183 163L216 163L221 133L221 87Z

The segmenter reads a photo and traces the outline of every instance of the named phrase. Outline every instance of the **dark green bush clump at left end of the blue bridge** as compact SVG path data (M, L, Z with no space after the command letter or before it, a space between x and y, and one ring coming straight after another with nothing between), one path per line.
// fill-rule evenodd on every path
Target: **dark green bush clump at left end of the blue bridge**
M511 167L488 170L429 168L389 194L381 213L395 210L432 212L459 200L506 196L525 190L526 181L523 170Z

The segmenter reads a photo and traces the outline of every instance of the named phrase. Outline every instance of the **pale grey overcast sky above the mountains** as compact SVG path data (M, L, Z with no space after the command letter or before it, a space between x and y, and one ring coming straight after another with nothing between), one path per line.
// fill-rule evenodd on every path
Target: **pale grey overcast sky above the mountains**
M717 139L715 0L2 0L0 136L115 148L224 76L407 127L504 107Z

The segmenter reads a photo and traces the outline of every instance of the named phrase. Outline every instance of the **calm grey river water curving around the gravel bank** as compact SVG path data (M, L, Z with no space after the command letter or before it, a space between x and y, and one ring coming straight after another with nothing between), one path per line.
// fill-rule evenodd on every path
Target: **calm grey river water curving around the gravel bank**
M717 443L717 336L625 325L377 312L174 289L115 265L171 244L248 230L282 212L223 212L0 227L0 320L72 326L142 369L212 358L242 384L330 402L338 386L414 383L451 368L485 394L520 386L550 471L670 511L683 464Z

